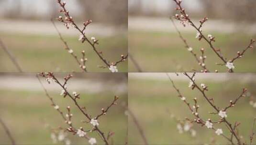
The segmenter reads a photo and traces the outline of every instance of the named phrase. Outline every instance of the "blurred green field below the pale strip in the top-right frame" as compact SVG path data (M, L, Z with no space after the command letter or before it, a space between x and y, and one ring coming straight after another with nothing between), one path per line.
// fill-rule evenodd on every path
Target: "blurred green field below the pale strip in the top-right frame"
M206 33L206 32L205 32ZM210 33L210 32L209 32ZM245 49L250 39L256 35L237 33L216 33L211 32L216 37L214 46L221 48L223 55L228 59L234 58L237 51ZM199 55L200 48L205 48L207 56L206 65L211 72L218 70L226 72L225 66L216 65L221 61L210 50L204 41L195 38L196 33L182 32L189 45ZM139 63L143 72L191 72L193 69L200 71L194 57L184 47L184 43L176 32L148 32L148 31L129 31L129 52ZM248 50L244 57L237 60L235 72L256 72L256 49ZM138 72L133 62L129 60L129 72Z

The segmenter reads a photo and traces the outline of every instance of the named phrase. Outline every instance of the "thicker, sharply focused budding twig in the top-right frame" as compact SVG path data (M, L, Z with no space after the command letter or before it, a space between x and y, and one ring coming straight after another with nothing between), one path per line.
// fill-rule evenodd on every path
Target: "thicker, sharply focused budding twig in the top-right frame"
M241 58L242 55L244 55L245 51L247 51L249 48L253 48L252 44L255 42L255 40L251 40L249 46L242 53L237 52L238 53L237 57L227 61L227 59L222 55L221 49L217 49L216 47L213 46L213 42L215 42L215 37L213 37L211 34L208 34L208 36L206 37L202 33L201 28L202 28L204 22L208 21L208 18L205 17L202 20L200 20L200 26L197 27L193 23L193 21L191 21L191 19L189 18L189 15L186 13L185 9L181 6L182 0L174 0L174 2L178 6L176 8L176 10L178 10L180 12L180 15L176 14L175 17L173 17L173 18L180 21L184 27L186 26L186 24L189 24L193 28L195 28L197 31L196 38L198 38L199 40L201 40L201 39L205 40L209 44L211 50L217 55L217 57L219 57L222 60L222 62L224 62L224 64L222 64L222 65L226 65L226 67L228 68L228 72L233 73L234 72L234 70L233 70L234 69L234 63L233 63L234 60L236 60L237 58Z

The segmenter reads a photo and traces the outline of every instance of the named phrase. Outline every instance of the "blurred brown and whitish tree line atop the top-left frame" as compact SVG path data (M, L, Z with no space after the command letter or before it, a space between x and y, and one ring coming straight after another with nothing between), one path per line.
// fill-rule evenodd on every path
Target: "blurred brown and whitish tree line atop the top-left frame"
M38 2L42 3L42 1L33 0L34 2L31 2L30 0L27 4L25 3L26 1L29 0L0 0L0 9L4 9L0 11L1 17L8 19L49 20L59 15L58 10L60 8L56 0L44 1L44 6L48 8L46 15L38 14L38 10L42 10L40 7L38 8ZM69 2L70 0L66 1ZM75 3L74 1L76 2L76 7L79 8L76 11L79 12L75 13L72 11L71 13L79 21L92 19L93 21L103 23L127 24L127 0L72 0L72 3Z

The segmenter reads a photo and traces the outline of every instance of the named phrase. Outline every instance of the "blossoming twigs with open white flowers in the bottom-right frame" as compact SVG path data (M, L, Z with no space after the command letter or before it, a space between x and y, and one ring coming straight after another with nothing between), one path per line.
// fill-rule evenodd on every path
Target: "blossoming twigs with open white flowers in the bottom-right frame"
M196 119L194 119L193 122L197 123L197 124L201 124L202 126L206 126L207 128L213 129L215 130L215 133L217 135L222 135L224 138L226 138L231 144L234 145L234 141L233 141L233 137L236 139L237 144L238 145L242 145L245 144L241 141L241 138L239 137L238 131L237 131L237 127L240 125L240 123L235 122L234 124L231 124L227 119L227 114L226 111L231 108L234 107L234 105L237 103L237 101L239 99L241 99L242 97L245 97L245 93L247 92L247 89L243 89L242 93L234 100L234 101L230 101L230 104L227 105L225 108L220 109L216 104L214 104L214 101L212 98L209 98L206 95L206 91L208 91L208 86L206 86L205 84L200 84L200 86L195 83L195 74L193 73L191 76L188 73L184 73L185 76L187 76L190 80L189 83L189 87L191 87L192 89L197 89L198 91L200 91L200 93L202 94L203 98L206 99L206 101L208 102L208 104L211 105L211 107L216 111L215 113L211 113L211 114L218 114L221 119L217 120L217 121L212 121L211 119L208 119L207 121L204 121L201 117L200 114L198 113L198 109L199 109L199 105L197 103L197 98L194 98L194 105L191 107L191 105L186 101L186 97L183 96L180 91L178 90L178 88L175 86L174 82L172 81L172 79L170 78L170 76L167 73L167 76L169 78L169 80L171 81L173 88L176 90L176 92L178 93L178 97L181 98L181 100L189 107L189 110L191 111L191 113L196 117ZM190 120L187 118L187 120ZM191 120L192 121L192 120ZM223 130L221 128L214 128L213 124L225 124L227 129L230 131L231 133L231 137L227 137L226 135L223 135Z

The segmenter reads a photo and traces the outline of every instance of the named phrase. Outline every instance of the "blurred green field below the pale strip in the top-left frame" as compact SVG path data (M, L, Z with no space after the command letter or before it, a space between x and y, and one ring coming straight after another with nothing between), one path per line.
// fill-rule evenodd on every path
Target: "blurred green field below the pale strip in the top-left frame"
M100 41L98 50L110 62L116 62L121 54L127 54L127 36L116 35L111 37L95 36ZM1 33L0 38L10 51L16 56L24 72L81 72L75 59L65 50L65 46L57 35L33 35ZM64 36L69 47L73 49L78 58L82 57L81 51L85 50L88 58L89 72L110 72L101 69L104 65L89 44L82 44L78 37ZM119 72L127 72L128 62L118 65ZM16 72L7 54L0 49L0 72Z

